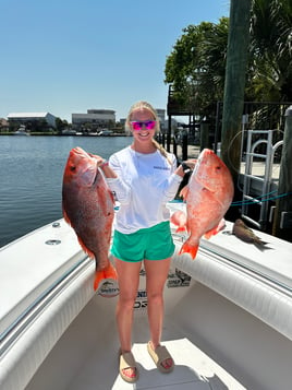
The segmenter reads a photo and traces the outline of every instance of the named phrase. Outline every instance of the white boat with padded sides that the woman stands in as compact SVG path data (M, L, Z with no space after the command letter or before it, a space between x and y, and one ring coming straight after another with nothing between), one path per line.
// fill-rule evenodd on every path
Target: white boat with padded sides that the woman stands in
M168 204L171 212L183 203ZM115 282L94 292L95 263L74 231L56 221L0 249L1 390L275 390L292 388L292 244L259 233L267 248L230 234L195 260L175 253L165 287L162 344L175 368L163 375L147 353L145 272L134 305L139 379L118 369Z

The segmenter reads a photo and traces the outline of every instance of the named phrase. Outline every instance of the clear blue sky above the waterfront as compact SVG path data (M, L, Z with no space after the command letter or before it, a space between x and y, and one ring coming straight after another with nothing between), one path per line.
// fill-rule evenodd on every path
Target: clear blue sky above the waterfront
M0 0L0 118L133 103L167 108L166 59L183 28L229 16L229 0Z

